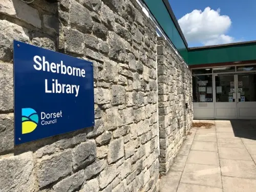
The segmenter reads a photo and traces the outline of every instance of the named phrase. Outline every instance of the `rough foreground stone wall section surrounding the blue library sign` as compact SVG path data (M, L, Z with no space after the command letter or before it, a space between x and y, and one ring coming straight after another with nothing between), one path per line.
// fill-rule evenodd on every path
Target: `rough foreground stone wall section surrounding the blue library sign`
M0 191L159 191L153 23L134 0L49 2L0 2ZM14 146L13 39L93 62L94 127ZM182 99L179 70L171 97ZM189 126L184 103L172 104Z

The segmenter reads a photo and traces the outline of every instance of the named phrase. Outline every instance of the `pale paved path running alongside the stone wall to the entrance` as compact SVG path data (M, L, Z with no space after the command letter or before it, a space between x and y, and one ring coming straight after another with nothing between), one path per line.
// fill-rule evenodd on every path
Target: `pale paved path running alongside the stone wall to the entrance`
M166 176L161 192L255 192L256 120L205 121L192 129Z

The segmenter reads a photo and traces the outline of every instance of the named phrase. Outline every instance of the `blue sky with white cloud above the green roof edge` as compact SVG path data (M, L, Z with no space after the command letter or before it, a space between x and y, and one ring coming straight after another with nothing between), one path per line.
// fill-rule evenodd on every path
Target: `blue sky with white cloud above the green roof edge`
M256 0L169 0L169 3L177 19L187 13L191 15L193 10L203 12L206 7L210 8L206 12L209 13L211 10L211 14L202 15L198 20L200 12L194 12L194 19L187 17L190 19L183 18L182 22L179 20L185 37L189 39L187 40L188 47L256 40ZM218 9L220 9L219 13L217 13ZM229 19L223 15L227 15ZM215 20L216 24L210 22L211 19ZM212 25L207 26L207 23ZM191 36L191 26L198 26L197 32L193 32L200 33L198 36L197 34ZM206 29L202 28L203 26ZM216 31L213 33L212 31L215 29ZM220 30L218 31L218 29ZM201 34L204 32L208 35ZM204 36L204 39L200 39L199 36Z

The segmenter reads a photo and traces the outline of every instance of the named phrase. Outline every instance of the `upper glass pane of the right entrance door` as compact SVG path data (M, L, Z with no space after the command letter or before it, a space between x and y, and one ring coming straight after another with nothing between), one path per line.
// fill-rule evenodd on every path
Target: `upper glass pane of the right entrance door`
M256 74L238 75L238 88L245 102L256 101Z

